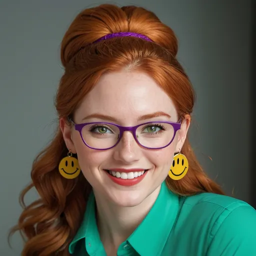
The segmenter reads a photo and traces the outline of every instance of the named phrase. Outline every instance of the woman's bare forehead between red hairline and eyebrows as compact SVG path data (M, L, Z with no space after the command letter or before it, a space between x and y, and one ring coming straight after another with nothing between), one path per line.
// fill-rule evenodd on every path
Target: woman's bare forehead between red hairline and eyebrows
M171 98L149 75L123 70L100 77L93 89L83 98L75 115L100 113L117 120L134 121L139 115L163 111L177 116Z

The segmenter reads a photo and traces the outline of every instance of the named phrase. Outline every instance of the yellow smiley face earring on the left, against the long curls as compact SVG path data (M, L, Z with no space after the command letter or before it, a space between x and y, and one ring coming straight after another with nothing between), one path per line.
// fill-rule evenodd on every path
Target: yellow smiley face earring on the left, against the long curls
M58 170L64 178L69 179L76 178L81 171L78 160L72 156L62 158L59 162Z

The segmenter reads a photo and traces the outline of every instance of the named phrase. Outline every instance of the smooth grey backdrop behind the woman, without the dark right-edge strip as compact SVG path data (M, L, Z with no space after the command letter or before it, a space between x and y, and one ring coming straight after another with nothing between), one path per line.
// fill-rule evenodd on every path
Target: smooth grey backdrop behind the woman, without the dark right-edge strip
M0 255L21 251L19 235L11 239L12 250L6 236L21 212L17 198L30 180L32 160L55 127L60 41L81 9L99 3L104 1L0 0ZM178 59L197 93L191 129L196 154L228 195L252 204L251 1L110 3L146 7L175 31ZM26 202L35 197L29 192Z

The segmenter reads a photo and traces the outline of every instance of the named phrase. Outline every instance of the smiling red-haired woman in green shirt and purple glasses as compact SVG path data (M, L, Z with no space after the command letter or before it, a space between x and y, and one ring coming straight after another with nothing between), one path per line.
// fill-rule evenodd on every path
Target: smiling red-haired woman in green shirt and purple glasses
M35 159L22 255L256 255L256 211L188 142L194 92L173 31L140 7L77 15L61 44L59 127Z

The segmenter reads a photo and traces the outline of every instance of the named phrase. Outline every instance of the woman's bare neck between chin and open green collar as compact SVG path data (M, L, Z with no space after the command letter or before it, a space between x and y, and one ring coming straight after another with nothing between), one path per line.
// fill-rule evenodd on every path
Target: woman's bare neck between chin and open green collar
M153 206L160 191L157 187L141 203L132 207L114 205L94 191L97 207L97 226L100 239L115 249L136 229Z

